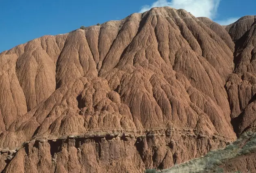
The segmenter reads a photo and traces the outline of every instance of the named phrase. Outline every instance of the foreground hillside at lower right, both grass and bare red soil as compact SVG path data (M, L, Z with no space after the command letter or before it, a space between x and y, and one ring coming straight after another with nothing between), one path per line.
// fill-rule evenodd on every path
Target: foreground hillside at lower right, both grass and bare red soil
M206 156L179 164L162 173L205 173L227 172L245 173L256 172L256 134L243 133L234 143L224 149L210 151ZM157 172L148 169L146 172Z

